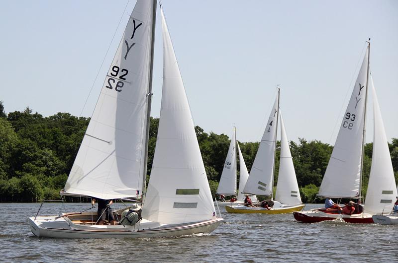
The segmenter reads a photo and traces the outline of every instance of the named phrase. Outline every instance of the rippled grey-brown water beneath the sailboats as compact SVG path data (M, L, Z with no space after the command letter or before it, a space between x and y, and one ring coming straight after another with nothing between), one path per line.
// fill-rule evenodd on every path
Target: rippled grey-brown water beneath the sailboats
M0 203L0 262L398 262L398 226L302 224L293 214L228 214L220 208L225 222L209 235L52 239L30 232L27 217L39 205ZM68 211L88 207L66 205ZM40 214L61 211L61 204L45 203Z

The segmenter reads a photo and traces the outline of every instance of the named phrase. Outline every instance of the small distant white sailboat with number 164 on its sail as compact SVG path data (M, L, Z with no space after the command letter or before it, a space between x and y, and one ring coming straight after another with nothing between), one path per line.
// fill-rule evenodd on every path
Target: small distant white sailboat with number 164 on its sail
M231 142L229 144L229 149L227 156L225 158L224 167L222 169L220 183L218 184L217 194L224 195L224 196L235 196L236 195L236 145L239 150L239 170L240 170L240 178L239 178L239 189L236 201L219 201L217 205L219 206L226 206L232 204L243 204L245 195L242 193L243 188L246 184L247 178L249 174L247 172L246 164L243 159L242 152L239 148L239 143L236 141L236 128L233 128ZM252 201L257 202L257 197L252 196ZM216 204L214 202L214 204Z

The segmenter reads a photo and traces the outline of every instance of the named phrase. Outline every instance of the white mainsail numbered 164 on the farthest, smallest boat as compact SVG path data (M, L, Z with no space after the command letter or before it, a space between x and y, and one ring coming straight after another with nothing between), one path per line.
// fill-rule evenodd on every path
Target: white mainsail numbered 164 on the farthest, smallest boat
M236 195L236 138L235 127L231 136L228 154L225 158L217 194L231 196Z

